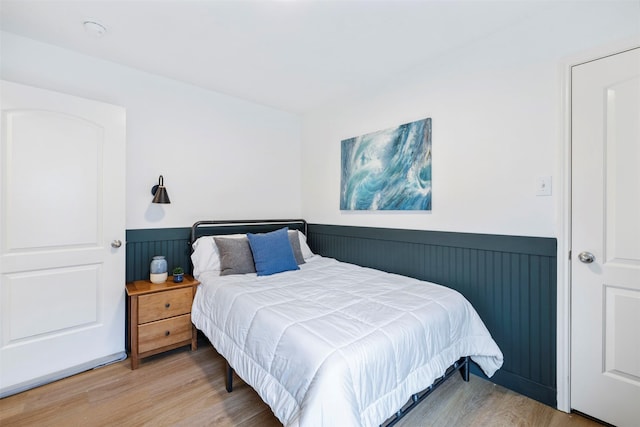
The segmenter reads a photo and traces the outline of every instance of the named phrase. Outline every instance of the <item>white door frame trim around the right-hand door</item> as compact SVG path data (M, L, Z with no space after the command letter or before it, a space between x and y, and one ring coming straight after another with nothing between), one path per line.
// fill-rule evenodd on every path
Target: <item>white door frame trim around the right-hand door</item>
M634 37L571 56L560 65L556 384L557 406L564 412L571 411L571 68L639 46L640 37Z

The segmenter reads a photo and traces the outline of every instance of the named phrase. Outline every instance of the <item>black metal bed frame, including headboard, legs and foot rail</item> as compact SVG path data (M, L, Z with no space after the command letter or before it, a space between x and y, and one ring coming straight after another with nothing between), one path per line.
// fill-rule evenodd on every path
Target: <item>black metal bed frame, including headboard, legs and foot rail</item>
M198 237L208 236L208 235L224 235L224 234L233 234L233 233L246 233L248 232L247 228L251 228L250 232L268 232L274 231L283 226L293 226L290 228L300 230L305 235L307 235L307 222L304 219L267 219L267 220L230 220L230 221L219 221L219 220L207 220L207 221L197 221L191 226L191 240L190 244L196 241ZM199 231L202 229L202 231ZM221 231L221 233L208 234L204 232L204 230L216 230ZM228 393L233 391L233 367L226 361L226 372L225 372L225 389ZM454 375L456 372L460 372L462 379L465 382L469 381L469 364L470 359L469 356L461 357L453 363L453 365L449 366L444 375L437 378L433 384L431 384L426 389L421 392L413 394L407 403L405 403L402 408L396 411L392 416L390 416L384 423L380 425L380 427L391 427L395 425L400 419L402 419L405 415L407 415L413 408L418 406L420 402L422 402L427 396L433 393L442 383L444 383L448 378Z

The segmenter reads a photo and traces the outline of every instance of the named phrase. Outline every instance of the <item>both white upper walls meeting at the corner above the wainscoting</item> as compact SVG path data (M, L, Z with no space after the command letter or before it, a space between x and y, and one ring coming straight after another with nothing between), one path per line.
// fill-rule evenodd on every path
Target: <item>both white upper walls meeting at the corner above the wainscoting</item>
M0 76L127 109L127 228L303 216L556 237L562 61L640 34L640 2L558 2L544 13L531 17L544 25L518 23L302 125L292 114L8 33L0 33ZM433 119L433 210L341 212L340 141L424 117ZM159 174L171 205L150 203ZM536 196L536 178L549 175L554 195Z

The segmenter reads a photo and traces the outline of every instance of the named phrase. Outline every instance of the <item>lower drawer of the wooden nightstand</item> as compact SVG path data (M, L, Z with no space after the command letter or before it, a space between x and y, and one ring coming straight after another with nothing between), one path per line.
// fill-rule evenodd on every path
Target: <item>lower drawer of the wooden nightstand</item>
M140 325L138 326L138 352L144 353L166 345L189 341L192 338L191 334L191 315L189 314Z

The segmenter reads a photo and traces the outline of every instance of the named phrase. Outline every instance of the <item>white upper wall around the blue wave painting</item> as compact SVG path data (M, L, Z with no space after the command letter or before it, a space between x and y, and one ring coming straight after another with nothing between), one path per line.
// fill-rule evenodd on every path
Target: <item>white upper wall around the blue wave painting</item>
M558 2L530 18L543 24L518 23L357 99L307 114L303 216L326 224L557 237L563 58L640 34L640 2ZM340 141L424 117L433 119L432 211L341 212ZM536 196L540 176L553 177L553 196Z

